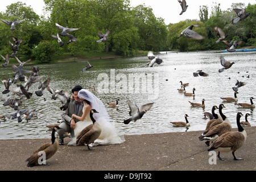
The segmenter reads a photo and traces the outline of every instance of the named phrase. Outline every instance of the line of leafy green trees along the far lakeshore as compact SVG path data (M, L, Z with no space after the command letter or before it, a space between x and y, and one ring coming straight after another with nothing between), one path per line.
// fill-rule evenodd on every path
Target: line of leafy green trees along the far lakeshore
M213 27L218 26L229 34L226 40L243 40L241 46L256 46L255 41L255 5L233 4L222 11L220 4L207 6L199 10L200 20L184 20L175 24L164 24L163 18L157 18L151 7L130 6L129 0L44 0L46 16L37 15L26 3L16 2L7 6L0 13L1 19L24 19L10 31L10 26L0 23L0 54L11 54L9 40L14 36L23 39L18 56L32 57L36 63L47 63L53 55L76 56L90 52L114 52L117 55L134 55L136 51L188 51L205 49L225 49L225 45L214 44L217 34ZM233 8L243 7L250 16L233 25L236 18ZM210 17L208 17L210 14ZM77 42L67 44L68 37L61 37L65 43L59 46L51 35L60 34L55 23L69 28L80 28L70 32L77 37ZM195 41L186 38L177 39L180 32L191 24L200 24L195 31L205 36L204 40ZM110 30L109 41L96 43L97 32Z

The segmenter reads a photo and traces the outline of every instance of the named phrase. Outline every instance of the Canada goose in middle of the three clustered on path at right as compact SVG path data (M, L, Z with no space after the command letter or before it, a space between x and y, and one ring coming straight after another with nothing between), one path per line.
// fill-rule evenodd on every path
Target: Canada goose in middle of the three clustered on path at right
M200 140L208 140L208 141L213 142L218 137L220 137L220 135L232 130L232 125L231 125L229 119L222 113L222 111L220 109L221 107L223 108L223 106L224 105L222 105L222 104L219 106L220 115L221 115L223 122L210 128L209 131Z

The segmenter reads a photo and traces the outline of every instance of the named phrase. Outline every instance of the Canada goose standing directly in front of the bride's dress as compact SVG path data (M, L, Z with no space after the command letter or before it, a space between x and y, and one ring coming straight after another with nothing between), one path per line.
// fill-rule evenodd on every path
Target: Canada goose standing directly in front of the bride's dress
M98 113L95 109L90 110L90 119L93 124L86 126L76 137L76 144L79 146L83 144L87 144L89 150L92 150L89 147L90 143L93 143L101 134L101 126L100 124L93 118L93 114Z

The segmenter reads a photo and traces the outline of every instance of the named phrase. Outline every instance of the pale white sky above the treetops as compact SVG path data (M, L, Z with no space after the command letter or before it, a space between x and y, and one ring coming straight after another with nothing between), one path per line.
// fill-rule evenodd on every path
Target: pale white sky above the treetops
M27 6L30 5L36 14L43 15L43 0L1 0L0 11L6 11L6 6L18 1L26 3ZM220 3L221 10L227 10L231 7L232 3L242 2L247 6L248 3L254 5L256 0L186 0L186 2L188 9L182 15L179 15L181 6L177 0L130 0L130 5L135 7L144 3L146 6L151 6L155 16L157 18L162 17L165 23L169 24L185 19L199 19L200 6L207 5L210 13L212 2Z

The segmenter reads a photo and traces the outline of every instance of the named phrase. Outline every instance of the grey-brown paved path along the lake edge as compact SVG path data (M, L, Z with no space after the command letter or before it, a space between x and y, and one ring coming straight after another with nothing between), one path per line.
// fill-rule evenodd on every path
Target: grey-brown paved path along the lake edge
M237 129L233 129L237 131ZM231 152L222 153L225 161L209 164L209 152L198 137L202 131L126 135L122 144L92 147L65 145L47 161L49 166L27 167L33 151L50 139L0 140L1 171L256 171L256 127L247 127L247 140L236 151L235 161ZM107 172L106 172L107 173ZM107 173L108 174L108 173Z

